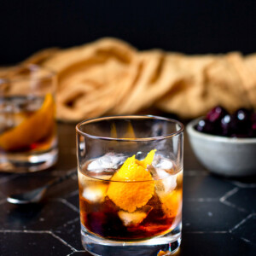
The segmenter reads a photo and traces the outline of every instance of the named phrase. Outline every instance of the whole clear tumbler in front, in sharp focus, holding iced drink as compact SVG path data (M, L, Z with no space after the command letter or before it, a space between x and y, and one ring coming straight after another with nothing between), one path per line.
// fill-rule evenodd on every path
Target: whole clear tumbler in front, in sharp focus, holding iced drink
M116 116L76 126L82 243L93 255L165 255L181 242L183 125Z

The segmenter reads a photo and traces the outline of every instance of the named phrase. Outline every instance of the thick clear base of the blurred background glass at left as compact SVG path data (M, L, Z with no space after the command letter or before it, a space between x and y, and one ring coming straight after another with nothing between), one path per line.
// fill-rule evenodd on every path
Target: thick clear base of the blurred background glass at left
M37 153L0 153L0 172L38 172L54 166L57 158L57 146Z

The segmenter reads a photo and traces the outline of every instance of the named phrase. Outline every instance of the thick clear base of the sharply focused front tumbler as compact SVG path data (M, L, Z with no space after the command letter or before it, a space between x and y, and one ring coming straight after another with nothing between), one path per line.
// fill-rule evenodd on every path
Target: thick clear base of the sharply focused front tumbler
M101 256L157 256L170 255L177 251L181 243L182 224L164 236L157 236L145 241L112 241L91 234L81 225L82 244L92 255ZM164 254L164 252L166 254Z

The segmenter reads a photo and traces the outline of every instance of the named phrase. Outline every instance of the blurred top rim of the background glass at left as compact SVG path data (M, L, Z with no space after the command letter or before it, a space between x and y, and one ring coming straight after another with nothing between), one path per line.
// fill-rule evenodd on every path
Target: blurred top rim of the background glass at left
M42 80L45 80L45 79L54 78L56 76L55 71L53 71L51 68L40 66L40 65L37 65L37 64L33 64L33 63L20 64L20 65L14 67L14 69L12 71L14 71L14 72L19 71L20 69L21 70L26 69L30 73L24 78L12 78L12 77L9 77L9 74L7 73L7 74L3 75L3 77L0 77L0 84L12 83L12 82L21 82L21 81L26 81L26 80L31 80L31 81L40 80L40 81L42 81ZM37 71L37 70L44 70L47 73L42 75L39 78L30 77L31 73L34 72L34 71Z

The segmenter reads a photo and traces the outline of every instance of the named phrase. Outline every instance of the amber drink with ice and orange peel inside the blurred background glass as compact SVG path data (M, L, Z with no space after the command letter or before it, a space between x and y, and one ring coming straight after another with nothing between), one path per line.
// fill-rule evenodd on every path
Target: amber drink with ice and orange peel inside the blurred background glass
M55 139L55 102L51 95L0 99L0 150L44 151Z

